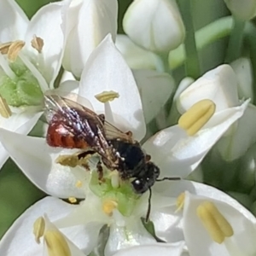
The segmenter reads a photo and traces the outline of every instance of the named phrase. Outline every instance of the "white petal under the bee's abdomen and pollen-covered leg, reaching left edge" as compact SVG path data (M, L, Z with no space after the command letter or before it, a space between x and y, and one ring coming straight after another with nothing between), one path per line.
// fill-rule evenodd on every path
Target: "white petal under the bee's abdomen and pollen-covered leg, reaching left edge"
M56 164L55 159L61 148L50 148L44 138L27 137L3 129L0 131L1 142L10 157L39 189L57 197L84 197L83 187L76 187L78 180L83 182L85 179L84 169Z

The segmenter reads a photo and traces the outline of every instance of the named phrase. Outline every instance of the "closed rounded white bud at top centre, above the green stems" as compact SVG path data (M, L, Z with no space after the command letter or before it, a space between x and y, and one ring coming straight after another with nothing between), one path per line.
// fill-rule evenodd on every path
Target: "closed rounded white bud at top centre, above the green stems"
M172 0L134 1L125 13L123 26L132 41L156 52L177 48L185 36L183 20Z

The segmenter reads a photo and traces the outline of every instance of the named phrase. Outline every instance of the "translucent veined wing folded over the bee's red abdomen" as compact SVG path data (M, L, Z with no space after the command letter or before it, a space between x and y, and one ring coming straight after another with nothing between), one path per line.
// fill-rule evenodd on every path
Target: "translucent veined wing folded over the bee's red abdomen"
M84 143L108 159L109 163L115 160L113 148L105 136L102 119L95 112L61 96L47 95L44 99L49 125L61 125L64 128L62 131L68 131L78 140L83 139Z

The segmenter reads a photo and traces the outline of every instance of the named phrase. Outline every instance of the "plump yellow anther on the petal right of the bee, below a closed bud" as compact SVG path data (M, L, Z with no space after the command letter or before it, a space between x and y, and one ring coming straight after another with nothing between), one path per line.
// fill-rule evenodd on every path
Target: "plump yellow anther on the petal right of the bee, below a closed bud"
M178 125L186 130L189 136L193 136L211 119L215 108L216 105L211 100L197 102L186 113L183 113L178 120Z

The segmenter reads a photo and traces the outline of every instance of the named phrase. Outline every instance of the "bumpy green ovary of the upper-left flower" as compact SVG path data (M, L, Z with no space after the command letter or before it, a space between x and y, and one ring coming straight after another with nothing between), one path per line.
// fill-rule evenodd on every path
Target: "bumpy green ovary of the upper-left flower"
M43 92L38 80L26 67L16 61L10 65L15 79L0 75L0 95L9 106L37 106L42 103Z

